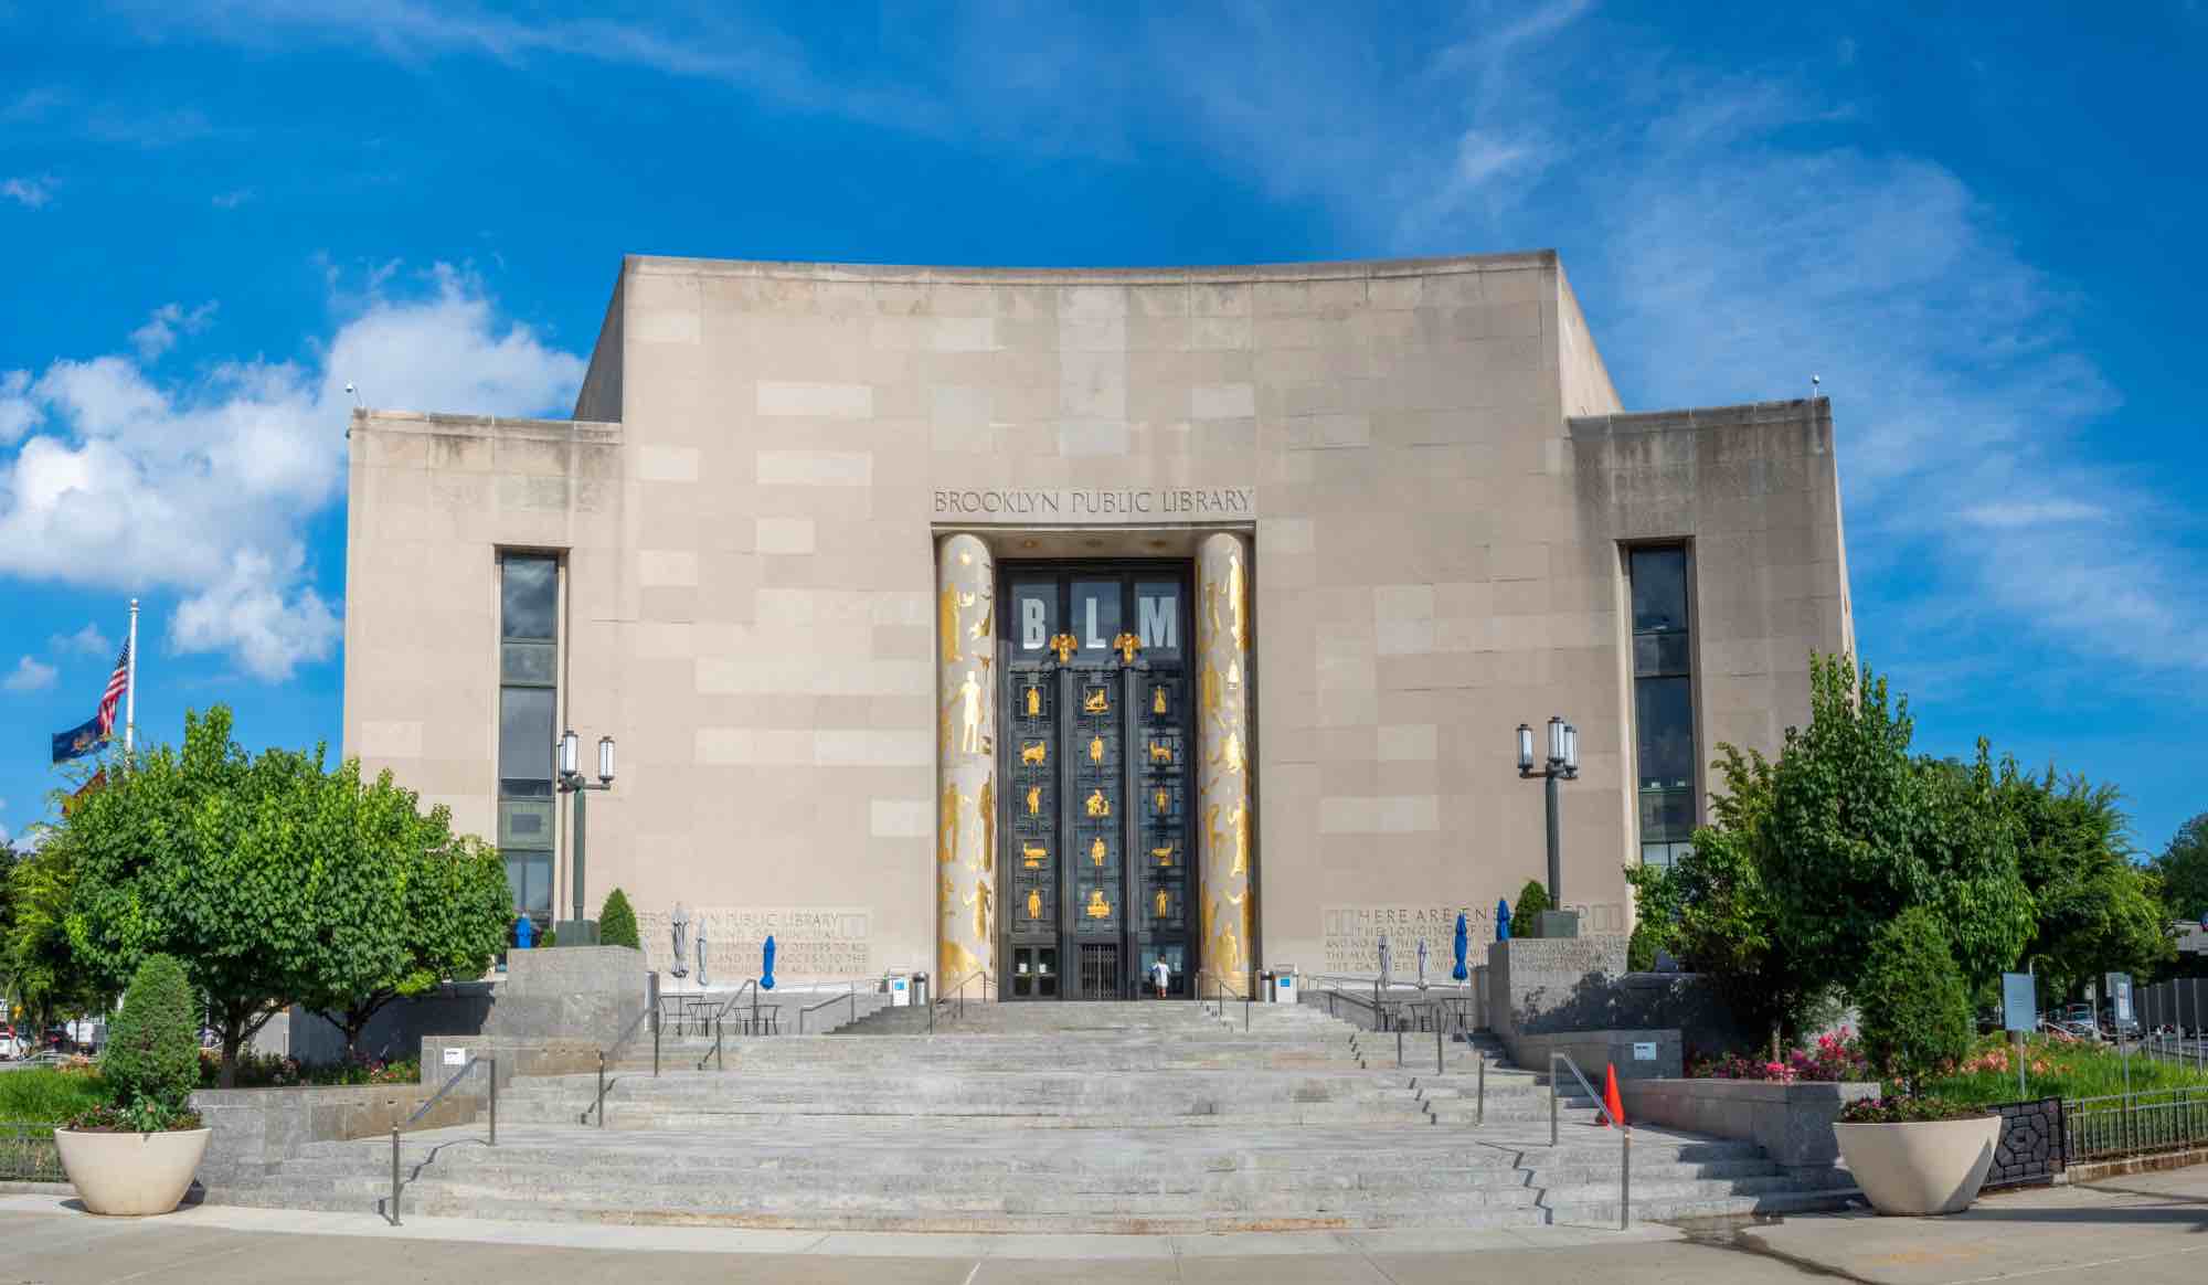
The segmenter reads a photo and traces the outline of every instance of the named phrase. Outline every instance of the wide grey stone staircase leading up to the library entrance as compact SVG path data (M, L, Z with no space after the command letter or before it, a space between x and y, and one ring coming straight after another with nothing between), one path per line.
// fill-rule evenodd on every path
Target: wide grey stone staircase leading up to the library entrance
M901 1024L885 1011L854 1031ZM925 1020L925 1013L921 1016ZM877 1024L879 1022L879 1024ZM1424 1062L1411 1058L1420 1049ZM481 1126L408 1135L406 1214L912 1232L1616 1225L1618 1141L1486 1040L1356 1031L1309 1007L967 1005L936 1036L662 1047L616 1075L514 1080ZM1486 1111L1479 1115L1479 1064ZM316 1144L214 1201L378 1210L389 1141ZM1751 1144L1634 1130L1634 1217L1833 1203Z

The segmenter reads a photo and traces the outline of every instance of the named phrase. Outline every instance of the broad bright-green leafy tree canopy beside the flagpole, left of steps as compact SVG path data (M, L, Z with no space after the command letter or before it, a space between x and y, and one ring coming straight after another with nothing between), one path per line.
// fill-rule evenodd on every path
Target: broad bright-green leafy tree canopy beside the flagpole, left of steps
M503 930L503 870L495 903L484 894L495 854L455 841L444 813L420 817L389 777L325 771L322 753L247 755L214 707L185 715L181 751L139 755L55 835L77 874L77 963L113 980L150 952L177 956L221 1031L225 1086L287 1005L329 1011L358 1040L391 996L488 967ZM428 852L459 870L426 865ZM455 905L428 905L439 885L461 892Z

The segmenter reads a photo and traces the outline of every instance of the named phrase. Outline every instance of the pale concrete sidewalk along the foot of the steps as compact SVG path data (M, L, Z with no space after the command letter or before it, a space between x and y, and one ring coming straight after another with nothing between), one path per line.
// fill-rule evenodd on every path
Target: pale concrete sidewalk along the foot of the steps
M2208 1168L1989 1197L1954 1219L1806 1214L1720 1230L1519 1228L1245 1236L925 1236L601 1228L205 1206L93 1219L60 1197L0 1197L0 1278L53 1285L528 1281L1203 1281L1442 1285L1512 1281L1864 1281L2157 1285L2208 1274ZM618 1256L616 1256L618 1254Z

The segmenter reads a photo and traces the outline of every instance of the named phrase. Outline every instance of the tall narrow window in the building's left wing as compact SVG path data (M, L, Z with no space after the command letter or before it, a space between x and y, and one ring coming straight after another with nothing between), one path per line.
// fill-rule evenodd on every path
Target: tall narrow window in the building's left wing
M552 923L559 559L499 556L499 854L514 907Z

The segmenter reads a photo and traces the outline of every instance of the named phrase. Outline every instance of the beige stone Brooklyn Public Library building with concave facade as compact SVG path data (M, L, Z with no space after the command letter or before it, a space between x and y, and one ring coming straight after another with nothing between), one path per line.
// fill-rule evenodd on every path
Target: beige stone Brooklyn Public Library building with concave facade
M583 910L667 967L682 903L715 980L1442 971L1546 874L1517 724L1579 729L1563 901L1618 932L1711 748L1806 722L1833 450L1625 411L1552 252L627 258L574 420L353 415L344 748L552 921L554 737L616 737Z

